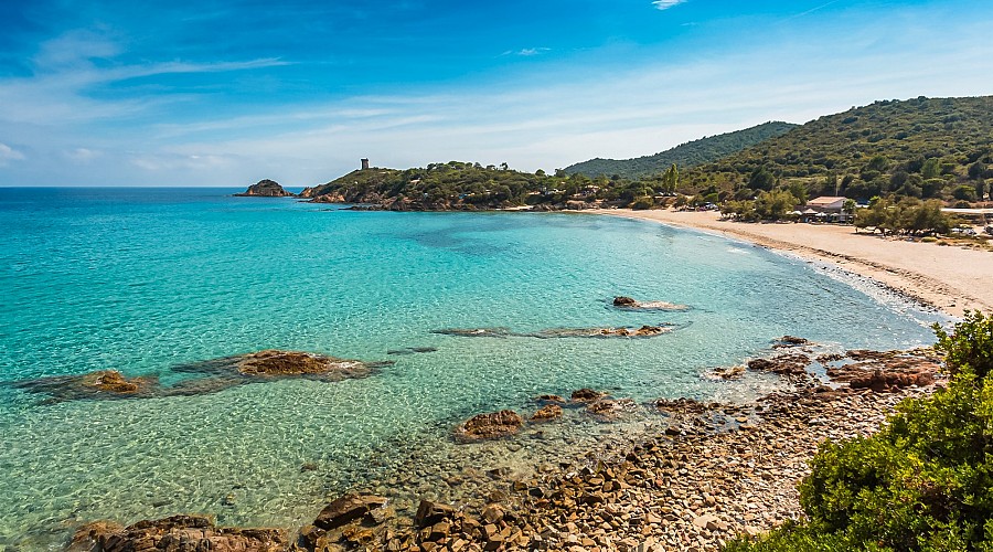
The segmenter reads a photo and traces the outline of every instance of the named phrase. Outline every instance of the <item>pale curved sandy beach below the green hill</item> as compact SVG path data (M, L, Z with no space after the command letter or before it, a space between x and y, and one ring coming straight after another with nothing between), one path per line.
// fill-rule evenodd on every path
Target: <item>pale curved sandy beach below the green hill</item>
M713 232L830 263L953 317L965 310L993 310L993 288L987 286L993 254L985 251L856 233L853 226L722 221L713 211L594 212Z

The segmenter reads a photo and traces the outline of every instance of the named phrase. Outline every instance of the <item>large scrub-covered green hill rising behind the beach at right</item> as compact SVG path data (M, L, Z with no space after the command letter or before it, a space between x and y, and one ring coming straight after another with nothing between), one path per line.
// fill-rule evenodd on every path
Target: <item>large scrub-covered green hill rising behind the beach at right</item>
M811 195L972 201L993 179L991 152L993 96L882 100L683 171L680 189L748 197L802 184Z

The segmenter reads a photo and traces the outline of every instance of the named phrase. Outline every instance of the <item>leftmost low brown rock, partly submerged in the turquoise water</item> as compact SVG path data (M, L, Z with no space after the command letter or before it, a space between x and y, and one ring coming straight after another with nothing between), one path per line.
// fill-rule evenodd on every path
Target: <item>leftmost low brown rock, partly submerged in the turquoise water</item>
M56 375L15 382L14 388L29 393L42 393L53 401L86 399L131 399L150 396L158 379L152 376L127 379L116 370L98 370L81 375Z

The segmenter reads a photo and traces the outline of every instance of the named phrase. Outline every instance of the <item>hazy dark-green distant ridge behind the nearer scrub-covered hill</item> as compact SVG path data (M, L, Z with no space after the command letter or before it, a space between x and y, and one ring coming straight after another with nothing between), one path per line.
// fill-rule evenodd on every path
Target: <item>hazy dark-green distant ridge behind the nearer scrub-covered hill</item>
M744 130L687 141L653 156L634 159L596 158L572 164L564 170L569 174L581 173L588 177L599 177L600 174L619 174L632 179L647 177L662 172L673 163L683 169L716 161L769 138L782 136L798 126L792 123L773 120Z

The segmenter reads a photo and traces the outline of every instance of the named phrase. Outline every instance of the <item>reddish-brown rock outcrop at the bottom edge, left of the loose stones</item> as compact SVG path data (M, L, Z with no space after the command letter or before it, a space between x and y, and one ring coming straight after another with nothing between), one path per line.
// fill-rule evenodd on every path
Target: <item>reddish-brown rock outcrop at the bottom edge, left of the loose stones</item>
M282 552L285 529L218 528L205 516L172 516L121 527L98 521L81 527L71 552L139 552L154 550L212 552Z

